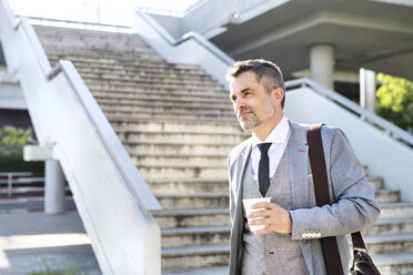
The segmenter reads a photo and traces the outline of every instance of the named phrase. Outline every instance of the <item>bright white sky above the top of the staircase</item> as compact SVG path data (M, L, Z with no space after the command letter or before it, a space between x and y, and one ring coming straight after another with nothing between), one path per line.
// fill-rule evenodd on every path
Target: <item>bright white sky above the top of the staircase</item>
M14 14L132 26L137 7L182 12L199 0L9 0Z

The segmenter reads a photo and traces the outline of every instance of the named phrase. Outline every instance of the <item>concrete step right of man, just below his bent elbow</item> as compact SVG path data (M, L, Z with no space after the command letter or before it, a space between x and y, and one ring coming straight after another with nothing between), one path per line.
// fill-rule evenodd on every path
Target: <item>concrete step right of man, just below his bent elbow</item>
M380 217L364 235L407 234L413 232L413 216L411 217Z

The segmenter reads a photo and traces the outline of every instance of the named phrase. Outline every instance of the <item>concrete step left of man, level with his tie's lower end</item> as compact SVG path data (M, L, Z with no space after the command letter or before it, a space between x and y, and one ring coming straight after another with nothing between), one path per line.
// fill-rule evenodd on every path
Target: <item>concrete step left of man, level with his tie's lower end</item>
M149 179L147 177L153 193L198 193L198 192L222 192L228 194L228 177L177 177L177 179Z

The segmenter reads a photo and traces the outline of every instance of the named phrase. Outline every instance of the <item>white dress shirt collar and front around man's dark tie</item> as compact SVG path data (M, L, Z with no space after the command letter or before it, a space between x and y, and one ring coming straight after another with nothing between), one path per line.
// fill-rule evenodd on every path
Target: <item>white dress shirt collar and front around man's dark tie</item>
M266 136L265 141L263 142L271 142L272 145L269 149L269 160L270 160L270 174L269 177L272 179L275 174L276 167L281 161L281 157L285 151L288 141L290 139L291 130L289 121L285 116L275 125L275 128L271 131L269 136ZM256 138L254 133L252 133L252 152L251 152L251 164L252 164L252 176L259 186L258 183L258 169L259 162L261 159L260 149L256 146L259 143L263 143L260 139Z

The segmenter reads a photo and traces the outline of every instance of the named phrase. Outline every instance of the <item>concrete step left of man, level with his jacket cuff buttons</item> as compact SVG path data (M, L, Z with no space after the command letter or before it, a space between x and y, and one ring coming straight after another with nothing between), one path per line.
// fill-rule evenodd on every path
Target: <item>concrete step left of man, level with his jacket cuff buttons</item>
M231 226L163 228L162 247L229 244Z

